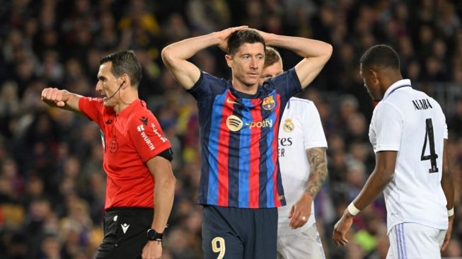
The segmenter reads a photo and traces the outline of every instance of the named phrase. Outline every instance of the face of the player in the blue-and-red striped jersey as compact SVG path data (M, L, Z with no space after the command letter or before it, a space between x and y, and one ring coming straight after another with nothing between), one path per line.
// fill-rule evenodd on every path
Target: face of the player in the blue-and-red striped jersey
M260 42L244 43L232 56L226 55L226 62L233 71L233 84L258 86L265 63L265 49Z

